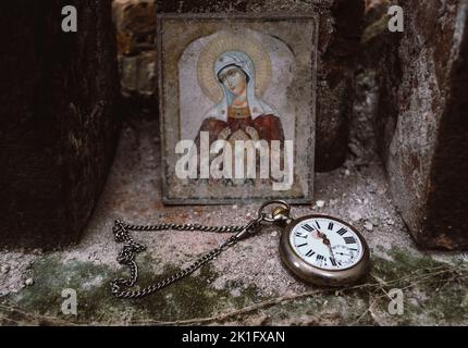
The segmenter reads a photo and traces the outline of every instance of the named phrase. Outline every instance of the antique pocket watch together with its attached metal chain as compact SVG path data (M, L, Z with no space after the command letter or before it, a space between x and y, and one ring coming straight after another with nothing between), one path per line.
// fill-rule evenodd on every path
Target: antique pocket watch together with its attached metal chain
M131 276L112 281L111 293L119 298L138 298L155 293L192 274L239 240L259 233L264 224L275 224L283 228L279 246L281 259L285 266L303 282L320 286L345 286L367 274L370 263L369 247L355 227L340 219L320 214L293 219L290 216L290 211L291 207L285 201L268 201L260 207L258 217L245 226L172 223L133 225L116 220L112 228L114 238L115 241L124 244L118 256L118 262L128 266ZM199 257L186 269L145 288L131 289L136 285L138 277L136 254L144 251L146 246L135 241L130 232L167 229L233 233L233 235L219 247Z

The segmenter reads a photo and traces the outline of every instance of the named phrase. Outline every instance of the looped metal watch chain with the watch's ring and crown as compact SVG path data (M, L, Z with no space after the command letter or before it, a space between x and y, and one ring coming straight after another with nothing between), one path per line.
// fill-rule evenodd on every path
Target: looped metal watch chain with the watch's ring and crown
M273 213L267 214L263 212L267 206L272 203L279 203L281 207L276 208ZM128 278L115 278L111 281L111 293L118 298L140 298L151 293L158 291L178 279L194 273L196 270L201 268L204 264L214 260L221 252L227 248L237 244L241 239L248 237L259 231L262 222L276 222L281 220L287 220L290 213L290 206L283 201L271 201L260 207L258 217L250 221L245 226L206 226L200 224L173 224L173 223L161 223L157 225L133 225L123 222L122 220L115 220L112 227L114 239L116 243L123 243L123 247L119 252L116 261L128 266L130 277ZM196 261L194 261L187 268L152 284L145 288L132 290L138 281L138 264L135 260L137 253L145 251L146 246L141 243L135 241L131 236L133 232L156 232L156 231L199 231L199 232L211 232L211 233L235 233L230 238L225 239L217 248L204 253Z

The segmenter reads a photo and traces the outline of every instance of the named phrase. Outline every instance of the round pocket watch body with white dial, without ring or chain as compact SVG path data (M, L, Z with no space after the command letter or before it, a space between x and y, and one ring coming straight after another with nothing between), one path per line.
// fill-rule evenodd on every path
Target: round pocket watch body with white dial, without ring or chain
M284 264L306 283L342 286L369 269L369 248L353 226L328 215L294 220L281 235Z

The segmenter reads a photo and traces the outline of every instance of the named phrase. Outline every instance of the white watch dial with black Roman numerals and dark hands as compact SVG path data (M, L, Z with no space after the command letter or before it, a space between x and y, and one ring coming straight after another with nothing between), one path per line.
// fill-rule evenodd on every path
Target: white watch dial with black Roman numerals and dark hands
M308 264L327 271L356 265L364 256L360 238L348 225L325 217L300 221L290 233L295 253Z

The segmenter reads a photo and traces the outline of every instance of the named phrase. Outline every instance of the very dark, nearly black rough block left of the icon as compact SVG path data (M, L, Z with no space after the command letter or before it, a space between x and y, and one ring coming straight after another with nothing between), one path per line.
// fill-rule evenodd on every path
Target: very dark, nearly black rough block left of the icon
M62 7L78 32L63 33ZM116 144L119 74L111 1L0 5L0 244L76 241Z

